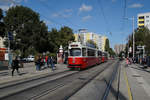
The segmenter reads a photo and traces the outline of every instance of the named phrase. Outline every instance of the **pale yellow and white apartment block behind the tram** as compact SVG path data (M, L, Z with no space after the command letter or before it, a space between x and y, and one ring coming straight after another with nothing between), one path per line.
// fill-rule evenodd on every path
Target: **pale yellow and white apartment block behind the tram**
M86 44L88 40L93 40L96 43L99 50L102 50L102 36L93 32L79 32L74 34L75 41Z

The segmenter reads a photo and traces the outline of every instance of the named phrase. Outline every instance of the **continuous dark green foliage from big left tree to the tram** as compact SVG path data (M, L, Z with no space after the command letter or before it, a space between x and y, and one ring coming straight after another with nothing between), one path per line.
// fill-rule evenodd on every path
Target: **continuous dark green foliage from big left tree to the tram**
M43 52L51 52L56 55L60 45L67 49L68 42L74 41L71 28L64 26L60 30L53 28L48 31L44 21L40 20L39 14L28 7L11 7L5 15L6 32L13 35L10 48L21 53L23 57ZM8 45L8 41L5 45Z

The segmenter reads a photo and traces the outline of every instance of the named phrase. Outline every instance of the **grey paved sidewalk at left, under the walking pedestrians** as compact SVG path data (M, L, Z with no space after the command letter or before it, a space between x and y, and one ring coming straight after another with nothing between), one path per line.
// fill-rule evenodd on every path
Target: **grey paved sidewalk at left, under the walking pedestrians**
M65 64L56 64L55 66L56 70L54 71L52 71L51 68L36 71L34 63L28 63L25 64L23 68L19 68L20 75L18 75L15 70L13 77L11 76L11 70L0 71L0 84L10 83L12 81L23 80L31 77L68 70L67 65Z

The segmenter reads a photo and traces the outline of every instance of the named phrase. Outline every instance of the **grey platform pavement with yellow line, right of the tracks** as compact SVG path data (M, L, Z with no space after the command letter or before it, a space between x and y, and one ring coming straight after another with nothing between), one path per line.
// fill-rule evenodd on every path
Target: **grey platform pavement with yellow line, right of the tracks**
M119 100L150 100L150 67L121 63Z

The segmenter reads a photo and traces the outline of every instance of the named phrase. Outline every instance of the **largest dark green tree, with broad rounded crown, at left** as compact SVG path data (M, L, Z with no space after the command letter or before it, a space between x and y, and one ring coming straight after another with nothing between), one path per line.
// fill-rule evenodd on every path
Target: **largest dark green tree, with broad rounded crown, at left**
M24 6L9 8L4 17L7 31L13 33L11 49L20 50L22 56L27 56L28 49L39 52L46 51L47 27L40 21L38 13ZM38 47L40 46L40 47Z

